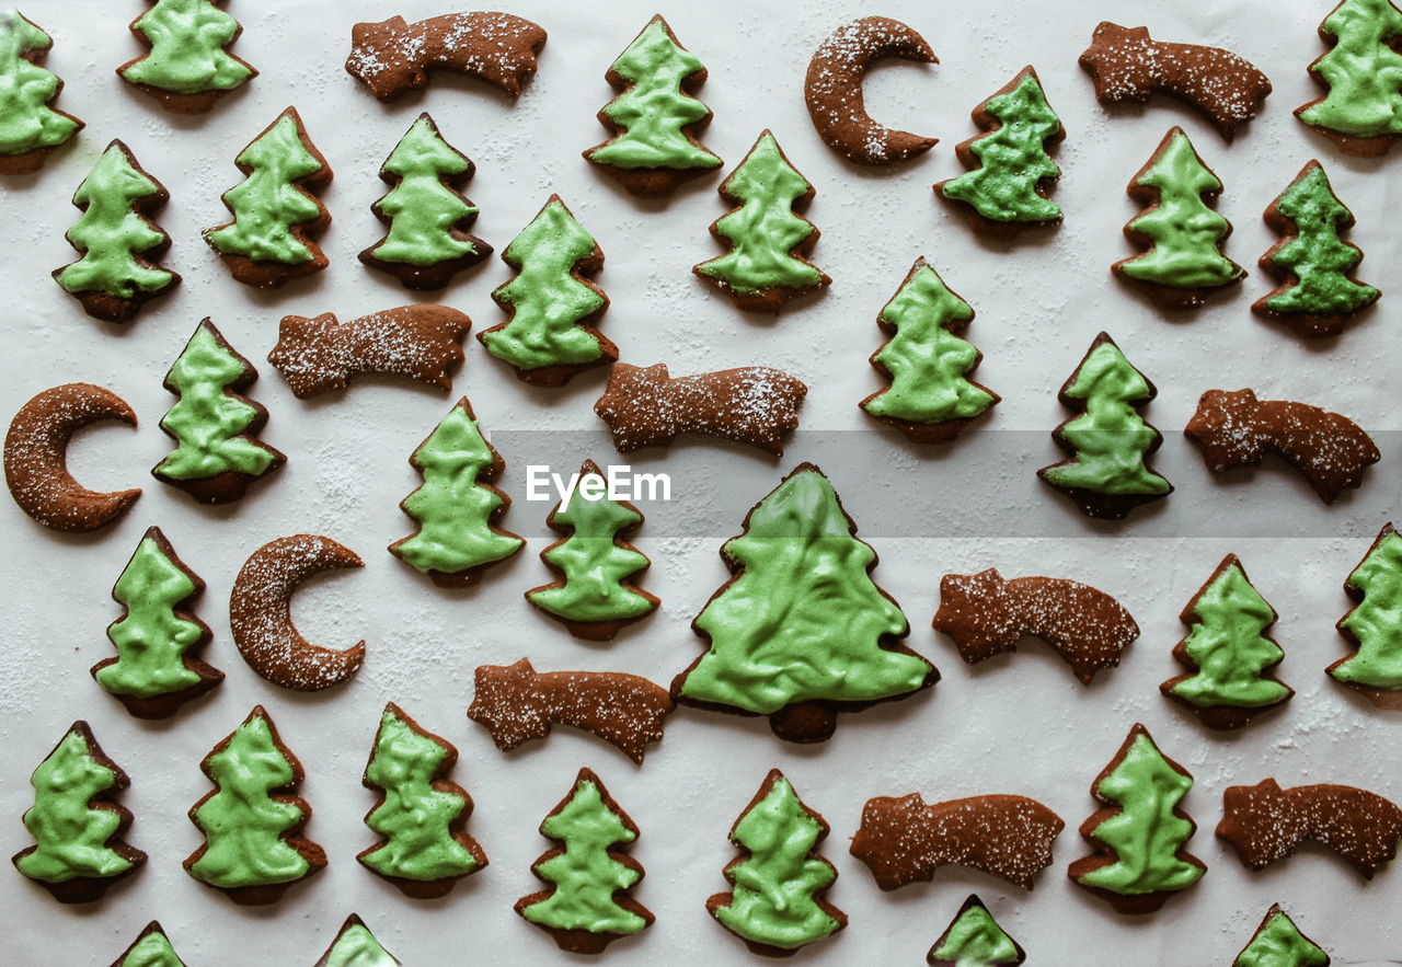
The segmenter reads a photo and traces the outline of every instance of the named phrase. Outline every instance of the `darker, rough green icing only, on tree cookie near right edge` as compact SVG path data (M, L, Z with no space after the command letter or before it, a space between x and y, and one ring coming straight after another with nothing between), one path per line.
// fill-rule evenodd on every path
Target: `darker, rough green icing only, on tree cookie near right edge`
M1353 224L1353 214L1335 196L1329 177L1318 161L1276 199L1274 210L1294 223L1295 234L1272 249L1272 265L1295 276L1295 282L1277 296L1266 299L1272 313L1309 313L1311 315L1346 315L1357 313L1381 294L1349 277L1363 259L1357 247L1339 238Z

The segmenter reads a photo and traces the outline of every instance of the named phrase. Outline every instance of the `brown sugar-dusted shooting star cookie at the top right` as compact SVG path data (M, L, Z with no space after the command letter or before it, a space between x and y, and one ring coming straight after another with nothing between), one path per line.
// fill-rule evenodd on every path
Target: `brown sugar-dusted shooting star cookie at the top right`
M1144 104L1166 94L1211 121L1228 142L1270 94L1270 80L1231 50L1166 43L1151 38L1147 27L1110 21L1095 28L1081 66L1095 81L1101 104Z

